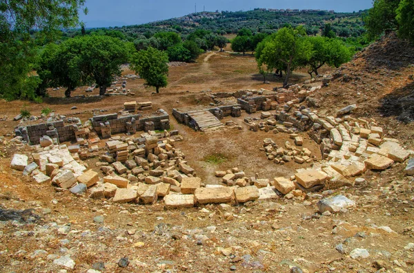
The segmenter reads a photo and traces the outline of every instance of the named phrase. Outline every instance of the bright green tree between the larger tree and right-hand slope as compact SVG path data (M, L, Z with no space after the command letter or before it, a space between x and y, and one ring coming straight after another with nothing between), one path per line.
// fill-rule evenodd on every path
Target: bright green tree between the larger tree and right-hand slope
M346 45L339 41L339 39L328 39L322 36L308 37L308 41L312 45L311 57L307 61L310 67L308 73L313 77L319 75L317 69L323 65L329 65L331 67L339 67L343 63L351 61L353 51Z

